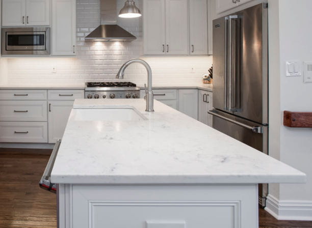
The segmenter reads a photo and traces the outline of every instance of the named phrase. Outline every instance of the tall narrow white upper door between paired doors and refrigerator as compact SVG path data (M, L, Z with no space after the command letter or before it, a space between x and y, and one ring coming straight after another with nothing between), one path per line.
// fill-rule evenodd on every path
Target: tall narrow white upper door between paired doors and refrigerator
M190 54L208 54L207 0L190 0Z

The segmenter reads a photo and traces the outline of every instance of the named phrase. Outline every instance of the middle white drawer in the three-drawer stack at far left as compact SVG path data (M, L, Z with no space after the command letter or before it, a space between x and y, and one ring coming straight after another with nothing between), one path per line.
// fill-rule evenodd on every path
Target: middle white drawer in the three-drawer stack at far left
M47 102L0 101L0 121L47 121Z

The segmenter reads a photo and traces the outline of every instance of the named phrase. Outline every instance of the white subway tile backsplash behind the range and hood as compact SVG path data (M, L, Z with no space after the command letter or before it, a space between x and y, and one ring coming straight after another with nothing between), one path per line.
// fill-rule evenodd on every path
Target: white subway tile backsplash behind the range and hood
M136 5L142 9L143 0ZM117 0L117 12L124 0ZM118 24L137 37L133 42L85 42L84 37L100 24L99 0L77 0L76 58L29 57L6 58L6 73L0 83L8 84L76 84L85 81L115 80L120 66L132 58L147 61L154 84L198 83L211 67L211 56L143 56L142 18L118 18ZM56 67L56 73L53 68ZM130 66L125 79L144 84L146 71L140 65Z

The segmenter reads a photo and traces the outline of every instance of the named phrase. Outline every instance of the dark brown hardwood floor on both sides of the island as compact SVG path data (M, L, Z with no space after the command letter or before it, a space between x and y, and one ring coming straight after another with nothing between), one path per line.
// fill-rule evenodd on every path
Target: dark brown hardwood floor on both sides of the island
M38 186L50 150L0 149L0 228L56 228L56 194ZM259 228L312 228L259 209ZM216 227L217 228L217 227Z

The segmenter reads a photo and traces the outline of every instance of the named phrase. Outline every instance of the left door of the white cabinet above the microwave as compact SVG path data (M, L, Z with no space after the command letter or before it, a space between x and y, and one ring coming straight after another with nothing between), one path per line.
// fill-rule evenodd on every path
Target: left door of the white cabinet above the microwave
M2 25L3 26L24 26L25 0L3 0L2 1Z

